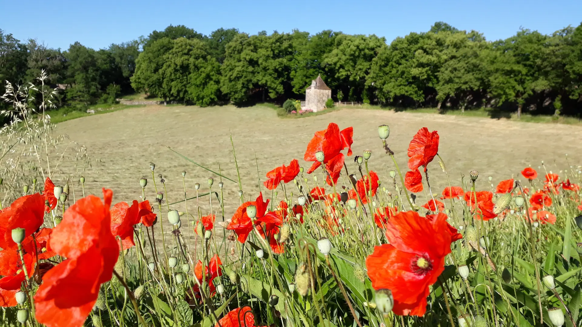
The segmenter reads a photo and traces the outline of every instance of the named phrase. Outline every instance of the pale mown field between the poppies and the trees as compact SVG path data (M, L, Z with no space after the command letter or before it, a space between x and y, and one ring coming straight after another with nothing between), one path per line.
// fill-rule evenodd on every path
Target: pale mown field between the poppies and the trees
M101 187L108 187L114 191L114 201L130 201L141 196L139 179L147 177L146 198L151 200L155 194L148 165L154 162L158 188L157 175L162 174L168 189L166 198L170 202L184 198L182 170L187 172L185 183L189 197L196 195L194 183L200 183L200 191L205 192L208 190L207 178L217 176L178 157L166 145L212 170L218 171L220 165L223 175L237 180L230 132L235 143L244 200L248 201L254 200L258 194L259 178L261 190L267 193L265 196L271 197L271 192L265 192L262 182L265 173L275 166L287 165L296 158L307 169L309 165L303 161L307 143L315 131L325 129L329 122L338 123L340 129L354 127L354 155L346 159L348 168L356 172L353 157L369 148L372 150L370 169L378 172L380 179L385 180L385 186L391 184L388 172L394 169L394 165L382 151L377 134L377 126L381 124L391 128L388 142L403 173L409 141L418 129L428 127L439 132L439 154L445 160L453 185L460 185L461 174L468 175L469 170L477 169L482 176L478 180L479 190L490 189L487 176L494 177L494 184L510 177L521 178L520 170L528 165L542 175L543 169L538 169L542 160L553 172L567 168L565 154L568 154L570 165L579 165L582 161L582 129L579 126L371 109L342 109L327 115L281 119L273 109L263 106L146 106L59 123L57 132L86 145L88 153L94 159L100 159L94 170L84 173L87 191L99 194ZM66 165L62 167L63 171L66 169ZM429 165L429 172L432 191L440 193L446 179L436 160ZM225 218L229 219L240 204L239 188L228 180L223 182ZM288 191L292 187L293 184L289 183ZM213 190L219 191L218 179ZM279 191L278 200L282 199L281 193ZM419 194L419 197L417 202L425 203L424 194ZM206 204L208 197L203 201ZM182 205L175 207L183 209ZM208 205L204 205L204 210L208 210ZM221 219L219 213L217 221Z

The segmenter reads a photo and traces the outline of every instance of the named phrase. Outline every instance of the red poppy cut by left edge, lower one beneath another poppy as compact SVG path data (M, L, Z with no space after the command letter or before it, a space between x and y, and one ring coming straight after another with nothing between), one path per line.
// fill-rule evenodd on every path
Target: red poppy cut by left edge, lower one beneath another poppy
M34 273L34 259L30 254L24 254L24 264L27 272ZM18 250L10 248L0 251L0 307L15 307L16 293L24 282L24 270Z

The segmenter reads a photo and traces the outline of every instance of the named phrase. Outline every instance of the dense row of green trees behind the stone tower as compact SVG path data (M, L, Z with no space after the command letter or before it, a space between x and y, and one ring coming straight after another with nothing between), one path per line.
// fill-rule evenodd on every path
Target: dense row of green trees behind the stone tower
M303 98L321 74L339 101L582 116L582 24L487 41L437 22L390 44L331 30L203 35L168 26L107 49L75 42L65 51L0 30L0 80L27 83L41 69L62 88L59 106L75 109L134 92L201 106L281 104Z

